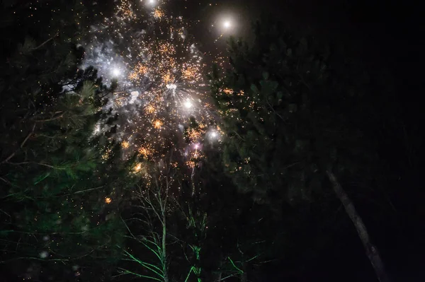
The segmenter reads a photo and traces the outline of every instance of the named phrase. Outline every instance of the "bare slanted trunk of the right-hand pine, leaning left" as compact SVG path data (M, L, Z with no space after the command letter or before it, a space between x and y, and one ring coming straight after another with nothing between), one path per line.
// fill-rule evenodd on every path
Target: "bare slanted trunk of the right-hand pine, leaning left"
M360 237L360 240L363 243L366 255L368 256L373 269L375 269L375 274L378 280L380 282L389 282L390 278L385 271L384 263L382 262L378 249L370 242L368 230L366 229L365 223L363 223L361 216L357 213L353 202L350 198L348 198L348 194L346 194L344 189L342 189L338 180L336 180L336 176L329 170L327 170L326 173L329 177L329 181L332 184L336 196L338 196L339 200L344 205L346 213L356 227L358 237Z

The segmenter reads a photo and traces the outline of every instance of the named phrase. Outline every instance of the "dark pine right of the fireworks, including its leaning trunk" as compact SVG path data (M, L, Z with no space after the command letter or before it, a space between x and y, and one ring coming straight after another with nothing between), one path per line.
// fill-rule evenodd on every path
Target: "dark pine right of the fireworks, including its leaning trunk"
M323 200L326 187L346 209L380 281L388 281L378 250L341 183L372 178L378 160L352 109L364 75L348 83L329 47L296 37L279 23L255 25L252 45L231 41L231 68L213 74L212 91L227 141L224 165L234 182L279 212L285 203ZM340 58L339 58L340 59ZM346 71L348 74L348 71Z

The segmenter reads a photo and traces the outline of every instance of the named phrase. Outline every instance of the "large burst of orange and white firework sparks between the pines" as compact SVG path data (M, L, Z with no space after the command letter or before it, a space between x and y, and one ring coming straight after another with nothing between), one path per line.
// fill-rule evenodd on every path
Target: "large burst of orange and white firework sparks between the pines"
M166 16L160 2L121 0L115 16L91 28L86 65L120 87L107 108L118 113L115 139L126 155L163 158L179 148L193 168L199 143L214 119L203 78L205 64L181 17ZM191 119L197 129L191 129Z

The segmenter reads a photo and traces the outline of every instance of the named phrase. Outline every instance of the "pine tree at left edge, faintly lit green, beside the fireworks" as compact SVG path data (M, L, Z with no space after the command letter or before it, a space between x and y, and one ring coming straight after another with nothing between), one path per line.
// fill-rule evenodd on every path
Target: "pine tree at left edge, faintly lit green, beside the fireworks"
M11 278L102 280L122 239L116 175L129 168L107 133L96 134L113 122L101 111L113 89L79 67L81 11L69 1L1 10L2 30L16 29L2 40L0 70L0 261Z

